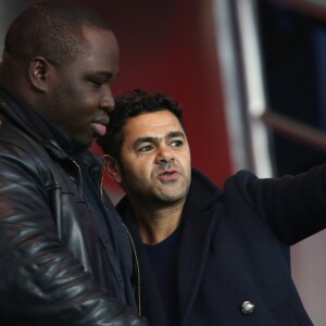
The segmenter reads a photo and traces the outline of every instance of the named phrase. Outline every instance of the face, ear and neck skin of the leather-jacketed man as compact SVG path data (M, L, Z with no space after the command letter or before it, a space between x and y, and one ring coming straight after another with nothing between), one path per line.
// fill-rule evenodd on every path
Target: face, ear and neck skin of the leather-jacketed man
M118 74L118 47L112 32L84 27L85 54L64 66L36 55L29 62L4 53L0 82L51 121L76 145L89 147L105 134L114 109L111 82Z

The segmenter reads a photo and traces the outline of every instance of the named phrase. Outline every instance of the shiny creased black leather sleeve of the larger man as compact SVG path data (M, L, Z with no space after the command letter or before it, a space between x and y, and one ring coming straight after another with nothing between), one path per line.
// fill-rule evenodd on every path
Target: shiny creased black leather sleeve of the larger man
M10 154L1 149L0 324L147 325L99 289L61 246L33 156L18 147Z

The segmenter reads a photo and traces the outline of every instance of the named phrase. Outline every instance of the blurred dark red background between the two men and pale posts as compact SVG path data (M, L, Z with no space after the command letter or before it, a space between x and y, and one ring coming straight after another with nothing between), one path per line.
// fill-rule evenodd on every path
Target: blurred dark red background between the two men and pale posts
M184 108L192 166L222 185L231 166L210 0L78 2L106 17L117 37L114 95L142 88L175 98Z

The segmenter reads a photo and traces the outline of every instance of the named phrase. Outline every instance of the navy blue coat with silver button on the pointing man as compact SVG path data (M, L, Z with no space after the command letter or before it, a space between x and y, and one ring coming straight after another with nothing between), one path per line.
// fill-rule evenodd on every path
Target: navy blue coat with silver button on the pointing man
M326 166L296 177L239 172L218 189L193 170L183 213L177 279L183 326L312 325L291 278L289 248L326 225ZM127 199L118 205L126 216ZM139 235L143 311L170 326ZM313 281L313 280L312 280ZM243 314L244 301L254 304Z

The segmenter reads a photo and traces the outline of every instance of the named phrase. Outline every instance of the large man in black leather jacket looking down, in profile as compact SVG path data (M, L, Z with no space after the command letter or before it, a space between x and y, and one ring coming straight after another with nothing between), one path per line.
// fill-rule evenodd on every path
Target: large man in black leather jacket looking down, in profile
M0 325L145 325L133 240L88 151L114 108L114 34L83 7L39 2L2 59Z

